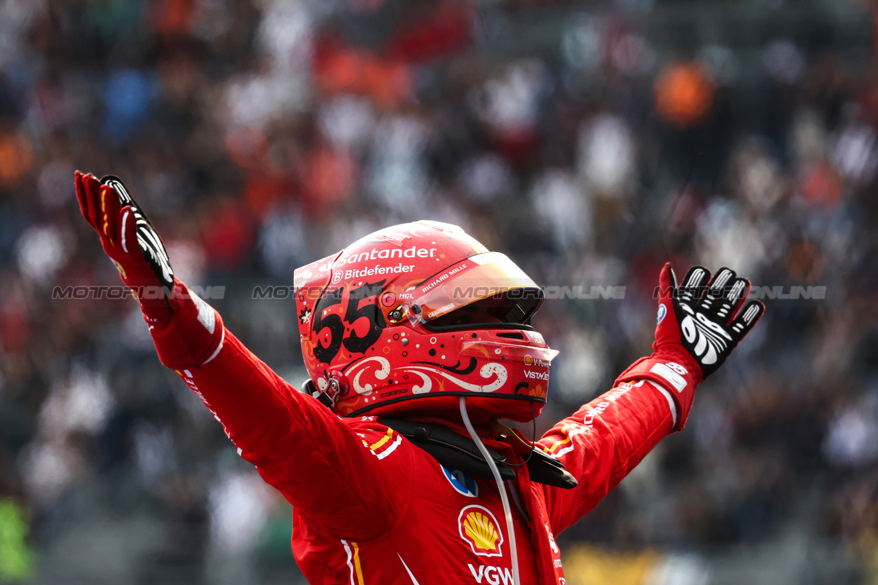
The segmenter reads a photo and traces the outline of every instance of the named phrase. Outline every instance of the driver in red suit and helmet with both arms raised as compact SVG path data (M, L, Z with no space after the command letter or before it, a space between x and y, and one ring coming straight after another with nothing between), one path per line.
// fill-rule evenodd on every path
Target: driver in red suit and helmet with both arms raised
M176 278L119 179L77 172L76 195L122 280L164 289L138 299L159 359L292 504L312 583L564 585L555 535L683 428L764 311L728 268L678 286L666 264L653 353L531 443L499 420L546 403L543 292L460 228L394 225L296 270L299 391Z

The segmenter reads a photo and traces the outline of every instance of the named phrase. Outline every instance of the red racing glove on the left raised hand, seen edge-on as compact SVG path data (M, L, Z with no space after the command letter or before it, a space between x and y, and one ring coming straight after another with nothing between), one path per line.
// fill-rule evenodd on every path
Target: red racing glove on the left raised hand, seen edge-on
M225 335L222 319L176 278L162 239L125 185L79 171L75 181L79 210L140 303L162 363L183 369L212 360Z

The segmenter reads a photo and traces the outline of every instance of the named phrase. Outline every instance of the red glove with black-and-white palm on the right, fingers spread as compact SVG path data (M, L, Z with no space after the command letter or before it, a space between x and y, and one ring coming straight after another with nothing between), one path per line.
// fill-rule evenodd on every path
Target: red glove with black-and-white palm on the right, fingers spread
M749 294L750 281L729 268L720 268L713 278L707 268L690 268L678 288L671 264L666 263L659 275L653 353L635 361L616 384L646 380L664 389L677 406L674 430L680 431L692 409L695 387L723 365L765 312L759 301L745 304Z

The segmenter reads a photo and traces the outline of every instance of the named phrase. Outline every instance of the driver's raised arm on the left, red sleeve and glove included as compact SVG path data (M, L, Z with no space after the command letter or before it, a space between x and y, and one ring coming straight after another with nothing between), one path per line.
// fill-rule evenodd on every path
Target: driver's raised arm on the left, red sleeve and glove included
M386 427L371 417L342 420L243 346L176 278L162 240L119 179L77 171L76 195L137 296L162 364L204 401L241 457L328 536L365 540L388 531L403 503L378 495L385 484L404 489L410 474L403 450L374 456L371 445Z

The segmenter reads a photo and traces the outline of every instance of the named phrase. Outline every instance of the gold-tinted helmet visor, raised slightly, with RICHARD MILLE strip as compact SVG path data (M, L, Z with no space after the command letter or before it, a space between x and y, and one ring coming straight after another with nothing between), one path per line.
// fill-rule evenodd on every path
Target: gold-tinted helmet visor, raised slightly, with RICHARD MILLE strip
M434 326L526 324L543 289L497 252L480 253L406 291L409 315Z

